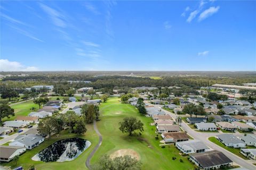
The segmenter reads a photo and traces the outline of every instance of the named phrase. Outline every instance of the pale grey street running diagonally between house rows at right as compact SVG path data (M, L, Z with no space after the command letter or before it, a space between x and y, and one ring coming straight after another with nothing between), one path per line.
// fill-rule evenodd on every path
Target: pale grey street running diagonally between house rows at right
M161 108L161 105L154 105L156 108ZM175 118L178 116L176 114L173 114L169 111L165 111L164 109L162 109L166 114L169 114L174 120ZM182 122L181 123L181 128L183 130L185 130L191 137L193 137L196 140L200 140L202 142L205 143L205 145L207 145L208 147L210 147L211 149L214 150L219 150L221 152L223 152L223 154L225 154L229 159L231 159L234 163L238 164L241 167L250 169L250 170L255 170L256 166L253 165L252 163L256 163L255 160L244 160L243 158L240 158L238 156L236 156L235 154L227 151L226 149L216 145L215 143L211 142L208 140L209 137L213 137L217 134L220 133L214 133L214 132L196 132L194 130L192 130L186 123Z

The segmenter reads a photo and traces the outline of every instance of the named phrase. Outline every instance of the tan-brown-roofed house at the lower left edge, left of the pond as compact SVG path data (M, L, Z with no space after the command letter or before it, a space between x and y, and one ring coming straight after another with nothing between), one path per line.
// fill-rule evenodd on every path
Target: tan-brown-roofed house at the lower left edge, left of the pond
M26 151L25 147L0 146L0 161L10 162L15 156L19 156Z

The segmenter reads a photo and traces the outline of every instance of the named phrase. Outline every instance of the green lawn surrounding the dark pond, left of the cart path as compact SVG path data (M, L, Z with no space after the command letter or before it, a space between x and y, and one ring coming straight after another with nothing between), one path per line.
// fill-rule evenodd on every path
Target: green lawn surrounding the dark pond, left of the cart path
M62 131L61 135L59 137L51 137L50 139L46 139L41 145L37 146L36 148L32 150L27 150L25 154L21 155L17 166L14 166L13 162L10 163L1 163L2 166L12 166L18 167L22 166L23 169L28 169L30 165L35 165L36 169L41 169L41 170L50 170L50 169L87 169L85 166L85 161L87 156L90 154L90 152L93 150L93 148L97 145L99 141L98 135L95 133L93 130L93 125L86 125L87 132L84 135L76 135L73 133L68 133L67 131ZM50 146L52 143L55 141L65 139L65 138L73 138L73 137L79 137L79 138L84 138L89 141L91 141L92 145L87 148L81 155L79 155L75 160L70 161L70 162L52 162L52 163L45 163L45 162L39 162L39 161L33 161L31 158L36 155L39 151L43 150L44 148Z

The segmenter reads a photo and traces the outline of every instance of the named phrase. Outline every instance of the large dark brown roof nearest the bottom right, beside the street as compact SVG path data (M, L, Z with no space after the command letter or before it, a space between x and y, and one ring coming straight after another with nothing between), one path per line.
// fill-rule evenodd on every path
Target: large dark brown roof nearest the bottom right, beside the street
M191 154L190 156L194 157L203 168L232 163L232 160L218 150Z

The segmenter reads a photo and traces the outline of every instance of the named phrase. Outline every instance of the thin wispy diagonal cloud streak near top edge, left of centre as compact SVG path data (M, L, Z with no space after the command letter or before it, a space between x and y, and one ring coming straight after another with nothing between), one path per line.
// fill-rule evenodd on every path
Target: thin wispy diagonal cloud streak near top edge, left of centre
M65 22L65 16L62 15L60 12L41 3L40 7L44 10L45 13L47 13L50 16L54 25L62 28L65 28L67 26Z

